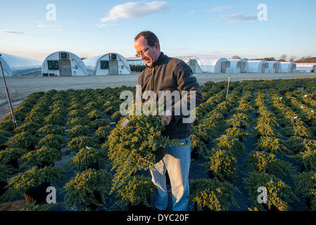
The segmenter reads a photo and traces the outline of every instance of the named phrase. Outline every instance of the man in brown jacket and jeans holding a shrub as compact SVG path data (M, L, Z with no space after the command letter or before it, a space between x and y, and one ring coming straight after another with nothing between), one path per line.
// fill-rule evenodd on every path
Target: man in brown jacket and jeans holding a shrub
M158 37L153 32L145 31L137 34L134 38L134 48L137 57L147 65L138 77L141 94L152 91L155 96L160 96L161 91L165 91L173 96L171 107L165 110L162 116L162 120L168 119L168 125L162 131L162 135L169 136L170 139L179 139L190 145L191 123L188 122L190 115L187 113L187 108L190 110L196 108L203 100L201 89L191 68L182 60L165 56L160 51ZM181 96L181 100L175 96ZM143 102L145 100L142 99ZM185 107L183 108L182 105ZM167 146L165 156L156 163L155 170L151 170L153 184L157 186L156 210L166 210L168 207L166 171L168 171L172 188L172 209L188 210L191 162L191 146L189 145Z

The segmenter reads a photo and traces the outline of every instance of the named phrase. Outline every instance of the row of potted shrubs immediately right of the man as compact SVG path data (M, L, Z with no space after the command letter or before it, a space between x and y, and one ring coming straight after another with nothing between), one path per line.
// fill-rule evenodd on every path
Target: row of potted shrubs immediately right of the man
M239 192L239 190L229 181L232 181L236 176L236 158L244 154L242 138L246 136L246 132L240 127L233 127L232 124L234 122L230 118L229 125L232 126L225 129L228 122L228 120L225 122L225 117L231 112L233 114L241 113L241 108L246 106L243 103L244 100L248 99L248 94L248 92L244 94L240 104L236 103L240 90L234 89L227 96L227 99L217 104L208 113L208 117L203 120L203 124L206 124L206 120L214 120L213 123L215 123L217 132L213 134L213 139L215 139L219 131L222 135L217 137L215 141L212 141L214 147L211 150L206 150L204 153L204 157L208 162L203 166L208 170L208 179L194 179L190 181L189 199L194 201L196 210L228 210L231 204L238 207L233 193ZM237 110L234 112L235 108L233 109L233 106L235 104L239 105L240 108L236 107ZM248 105L245 108L248 108ZM218 129L219 127L220 129Z

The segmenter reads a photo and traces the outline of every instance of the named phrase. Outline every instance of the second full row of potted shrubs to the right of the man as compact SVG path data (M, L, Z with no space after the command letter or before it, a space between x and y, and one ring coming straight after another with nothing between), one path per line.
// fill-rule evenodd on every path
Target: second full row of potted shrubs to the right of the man
M263 91L258 91L255 98L254 132L257 135L257 149L248 154L245 165L250 169L244 179L248 195L256 210L289 210L296 195L283 179L293 175L296 168L290 162L279 160L278 153L286 153L282 136L279 134L277 119L269 110L269 98ZM263 142L265 140L265 142ZM258 188L267 191L266 202L258 202Z

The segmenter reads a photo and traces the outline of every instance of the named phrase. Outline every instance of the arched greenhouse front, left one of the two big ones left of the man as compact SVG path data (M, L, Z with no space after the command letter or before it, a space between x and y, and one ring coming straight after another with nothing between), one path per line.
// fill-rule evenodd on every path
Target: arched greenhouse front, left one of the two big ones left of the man
M42 76L87 76L87 68L81 58L68 51L56 51L42 64Z

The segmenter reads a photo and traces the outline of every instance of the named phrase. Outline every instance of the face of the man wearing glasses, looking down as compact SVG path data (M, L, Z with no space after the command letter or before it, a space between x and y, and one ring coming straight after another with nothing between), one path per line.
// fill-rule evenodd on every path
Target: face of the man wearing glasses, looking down
M153 66L153 62L156 62L160 56L158 44L156 43L154 46L150 47L147 45L146 39L142 36L134 42L134 47L141 60L143 60L149 67Z

